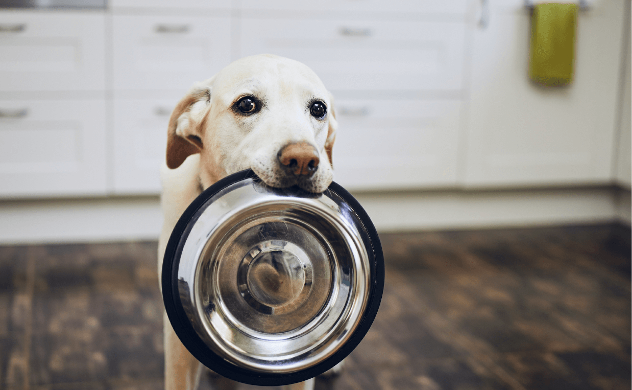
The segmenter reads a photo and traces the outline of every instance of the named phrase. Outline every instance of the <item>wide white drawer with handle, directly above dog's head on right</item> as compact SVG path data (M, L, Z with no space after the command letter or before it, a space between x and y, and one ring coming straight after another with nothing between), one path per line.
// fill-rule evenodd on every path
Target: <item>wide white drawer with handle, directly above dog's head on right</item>
M330 90L458 90L465 24L244 18L241 56L310 66Z

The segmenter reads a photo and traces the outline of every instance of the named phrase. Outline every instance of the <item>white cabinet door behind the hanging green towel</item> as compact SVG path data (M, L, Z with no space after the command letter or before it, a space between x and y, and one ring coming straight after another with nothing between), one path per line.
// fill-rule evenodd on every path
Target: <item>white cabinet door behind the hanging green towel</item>
M472 27L465 183L609 182L624 2L580 11L574 80L561 88L528 80L530 16L515 3L492 8L487 28Z

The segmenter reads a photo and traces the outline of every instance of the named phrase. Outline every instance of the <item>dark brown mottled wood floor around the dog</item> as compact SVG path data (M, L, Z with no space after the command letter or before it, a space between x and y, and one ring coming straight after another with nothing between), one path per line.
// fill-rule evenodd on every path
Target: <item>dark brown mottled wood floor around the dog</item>
M632 389L629 228L381 238L382 306L335 389ZM155 258L0 246L0 388L161 389Z

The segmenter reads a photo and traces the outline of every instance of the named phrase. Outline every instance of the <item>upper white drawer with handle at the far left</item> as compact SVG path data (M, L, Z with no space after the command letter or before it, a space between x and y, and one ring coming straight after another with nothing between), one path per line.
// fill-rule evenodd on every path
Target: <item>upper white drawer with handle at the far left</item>
M101 90L102 13L0 13L1 91Z

